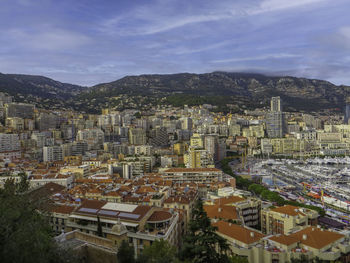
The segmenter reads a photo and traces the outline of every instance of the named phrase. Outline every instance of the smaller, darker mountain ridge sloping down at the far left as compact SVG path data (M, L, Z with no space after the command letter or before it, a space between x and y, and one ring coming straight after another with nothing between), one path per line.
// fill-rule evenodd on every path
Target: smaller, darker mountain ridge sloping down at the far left
M17 98L27 96L41 99L68 99L79 94L84 87L61 83L43 76L0 73L0 92Z

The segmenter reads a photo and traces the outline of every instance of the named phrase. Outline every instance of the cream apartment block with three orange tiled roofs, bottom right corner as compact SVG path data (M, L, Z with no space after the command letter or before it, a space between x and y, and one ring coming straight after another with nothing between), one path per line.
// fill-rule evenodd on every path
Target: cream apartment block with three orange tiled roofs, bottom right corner
M218 221L217 233L225 238L234 255L250 263L287 263L293 259L349 262L349 234L309 226L289 235L268 235L248 227Z

